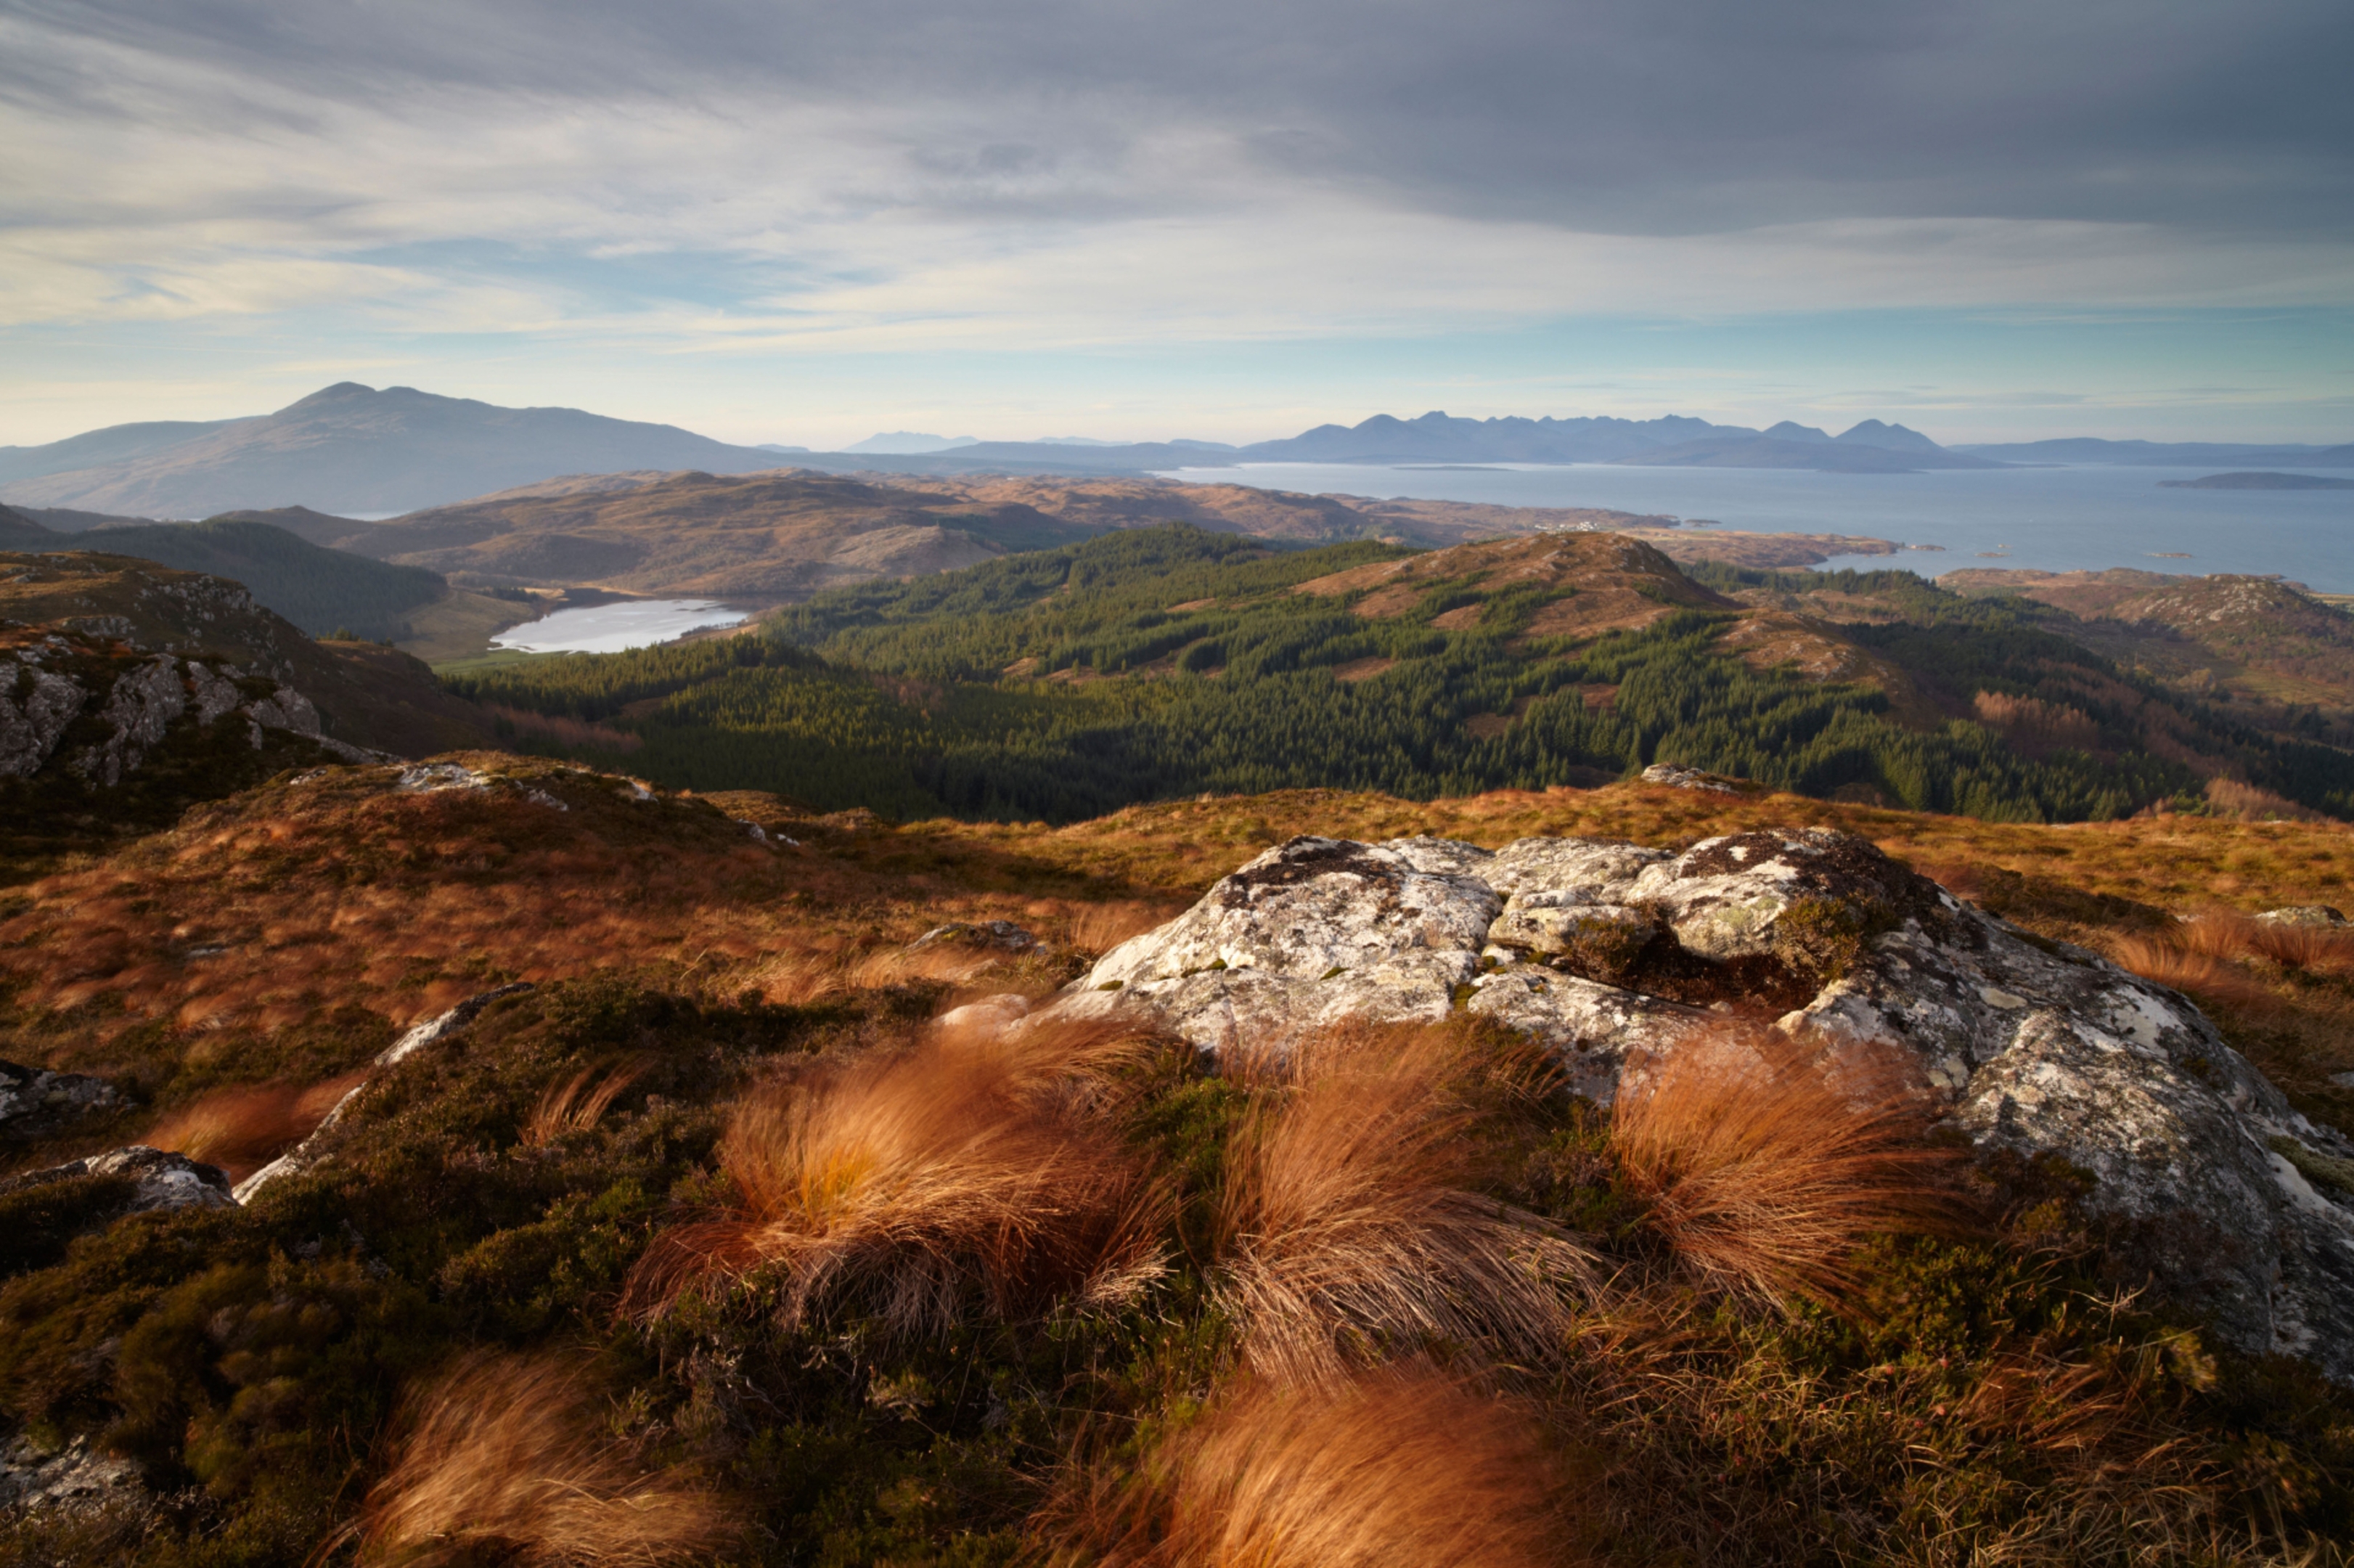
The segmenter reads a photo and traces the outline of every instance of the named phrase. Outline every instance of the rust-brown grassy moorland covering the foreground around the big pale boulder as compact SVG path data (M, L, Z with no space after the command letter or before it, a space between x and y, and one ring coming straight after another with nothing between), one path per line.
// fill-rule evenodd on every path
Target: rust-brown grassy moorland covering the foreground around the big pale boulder
M1424 1071L1408 1088L1427 1109L1405 1123L1462 1130L1445 1182L1474 1201L1448 1212L1575 1231L1603 1283L1540 1356L1455 1342L1384 1368L1389 1347L1342 1342L1349 1368L1285 1384L1203 1309L1236 1269L1222 1172L1332 1081L1128 1038L1008 1050L975 1022L989 1010L946 1010L1069 982L1302 831L1681 848L1824 824L2043 942L2166 970L2300 1109L2345 1121L2347 954L2326 932L2267 946L2173 918L2326 902L2354 873L2345 826L2020 826L1620 784L892 829L497 753L445 763L431 786L391 768L278 779L0 909L0 1050L132 1097L16 1144L19 1170L134 1137L252 1165L308 1125L290 1107L315 1118L398 1026L539 982L377 1069L327 1154L245 1205L111 1217L125 1184L106 1175L0 1189L0 1413L28 1455L129 1476L0 1514L14 1556L181 1568L226 1542L292 1563L358 1540L363 1561L454 1542L751 1563L791 1540L843 1563L1168 1563L1196 1556L1158 1542L1212 1561L1241 1540L1302 1568L1996 1549L2032 1568L2255 1568L2333 1561L2342 1540L2347 1396L2142 1311L2102 1271L2067 1172L1989 1177L1961 1212L1928 1187L1864 1194L1951 1220L1848 1236L1808 1260L1836 1281L1829 1307L1777 1302L1714 1285L1657 1203L1697 1135L1721 1210L1756 1196L1723 1158L1751 1130L1737 1102L1631 1140L1488 1036L1410 1038L1394 1055ZM916 942L951 921L1012 921L1043 946L986 928ZM946 1099L991 1074L991 1095ZM1377 1149L1335 1163L1351 1125L1328 1123L1285 1144L1285 1180L1346 1208L1349 1238L1412 1231L1429 1172ZM1817 1132L1782 1125L1763 1154L1808 1168ZM1073 1257L1102 1241L1066 1194L1008 1203L1024 1194L1008 1161L1036 1149L1144 1165L1158 1260L1052 1309L958 1288L1019 1264L1012 1241ZM822 1180L779 1191L793 1156ZM1711 1245L1789 1248L1768 1229L1782 1210L1763 1215L1716 1222ZM749 1227L786 1262L723 1248ZM1419 1262L1459 1262L1450 1236ZM836 1243L862 1248L857 1271L810 1264ZM680 1250L709 1290L631 1295ZM1356 1297L1424 1283L1387 1253L1335 1262ZM777 1311L803 1297L803 1316Z

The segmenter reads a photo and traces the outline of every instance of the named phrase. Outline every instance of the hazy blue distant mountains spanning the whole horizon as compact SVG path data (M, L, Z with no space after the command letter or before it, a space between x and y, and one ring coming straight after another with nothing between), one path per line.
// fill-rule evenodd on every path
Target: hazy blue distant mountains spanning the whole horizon
M106 518L205 518L311 506L327 513L407 513L537 485L556 476L624 471L904 476L1142 476L1233 464L1634 464L1697 469L1817 469L1909 473L2027 464L2293 464L2354 466L2354 445L2255 447L2144 440L2039 440L1942 447L1902 424L1867 419L1838 436L1794 421L1766 431L1669 414L1662 419L1419 419L1375 414L1283 440L1102 445L1083 436L970 440L892 431L847 452L742 447L669 424L605 419L570 407L497 407L410 386L339 381L275 414L217 421L120 424L42 447L0 447L0 499L49 527ZM82 520L87 518L87 523Z

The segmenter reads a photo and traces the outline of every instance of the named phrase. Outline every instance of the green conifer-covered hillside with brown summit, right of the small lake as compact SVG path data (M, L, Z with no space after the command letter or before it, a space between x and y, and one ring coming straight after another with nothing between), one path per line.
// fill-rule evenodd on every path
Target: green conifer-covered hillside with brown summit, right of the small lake
M551 751L902 817L1436 798L1650 763L2022 822L2189 803L2222 772L2354 815L2354 756L2232 727L1999 603L1909 584L1916 619L1834 638L1612 534L1276 553L1172 525L824 593L725 643L452 685L546 718L518 739Z

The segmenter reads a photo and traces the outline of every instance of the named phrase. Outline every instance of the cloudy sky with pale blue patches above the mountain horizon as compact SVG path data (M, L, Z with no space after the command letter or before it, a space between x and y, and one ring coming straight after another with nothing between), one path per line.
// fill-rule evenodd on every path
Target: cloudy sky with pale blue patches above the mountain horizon
M0 445L2354 438L2345 0L0 0Z

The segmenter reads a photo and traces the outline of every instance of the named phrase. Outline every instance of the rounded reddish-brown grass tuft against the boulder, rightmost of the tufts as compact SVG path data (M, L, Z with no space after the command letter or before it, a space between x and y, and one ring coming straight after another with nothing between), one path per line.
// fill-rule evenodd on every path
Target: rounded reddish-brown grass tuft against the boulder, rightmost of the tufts
M1780 1307L1846 1297L1874 1234L1954 1222L1956 1156L1921 1135L1893 1074L1834 1081L1803 1048L1747 1031L1631 1062L1610 1114L1620 1170L1674 1255Z

